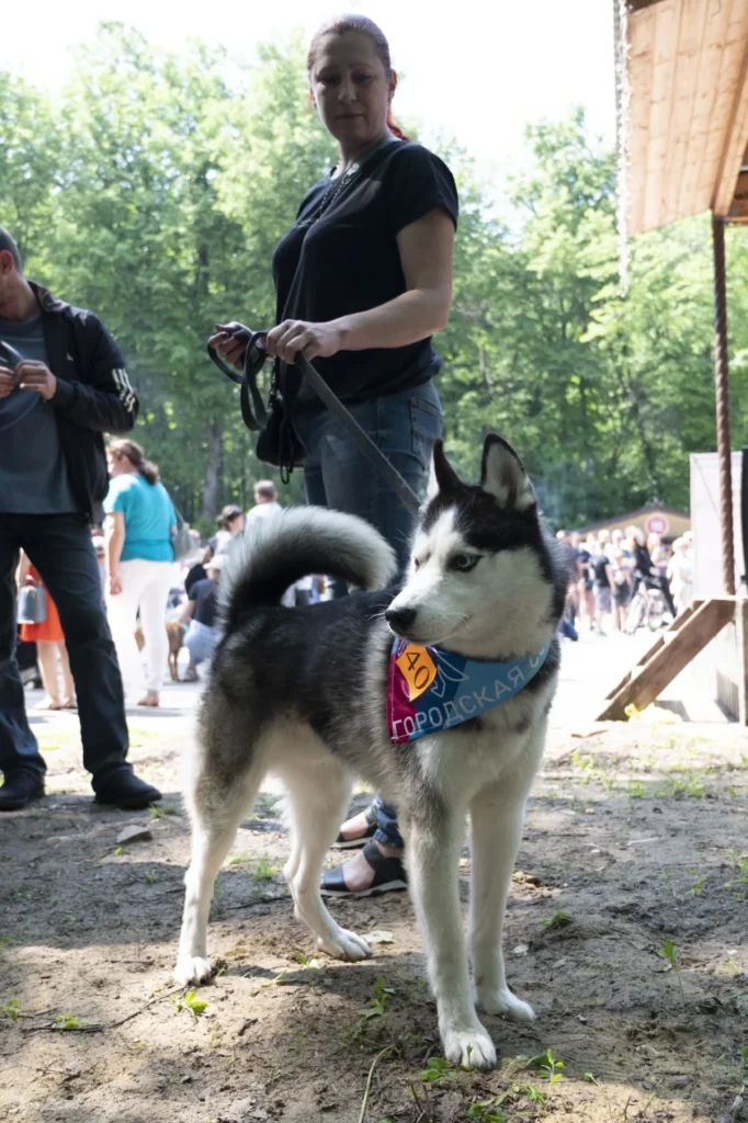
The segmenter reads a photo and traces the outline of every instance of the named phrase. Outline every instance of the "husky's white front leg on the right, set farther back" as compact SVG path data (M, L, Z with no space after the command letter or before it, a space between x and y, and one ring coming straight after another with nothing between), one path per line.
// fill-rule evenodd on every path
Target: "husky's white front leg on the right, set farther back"
M501 947L507 894L522 837L526 791L492 785L471 803L471 959L475 1003L486 1014L531 1022L532 1007L507 986Z

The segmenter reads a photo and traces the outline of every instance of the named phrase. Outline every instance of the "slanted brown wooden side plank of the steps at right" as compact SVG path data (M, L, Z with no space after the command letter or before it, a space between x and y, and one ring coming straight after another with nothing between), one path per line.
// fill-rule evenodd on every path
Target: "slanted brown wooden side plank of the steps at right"
M622 721L626 709L645 710L706 643L735 619L733 597L705 601L686 621L672 643L659 648L598 716L598 721Z

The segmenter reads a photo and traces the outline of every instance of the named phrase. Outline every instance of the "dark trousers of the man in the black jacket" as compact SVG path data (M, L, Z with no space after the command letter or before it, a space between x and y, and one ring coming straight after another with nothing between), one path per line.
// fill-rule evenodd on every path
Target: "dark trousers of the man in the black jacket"
M57 606L77 695L83 764L101 778L125 761L127 722L99 566L83 514L0 514L0 772L45 773L16 661L19 549L36 566Z

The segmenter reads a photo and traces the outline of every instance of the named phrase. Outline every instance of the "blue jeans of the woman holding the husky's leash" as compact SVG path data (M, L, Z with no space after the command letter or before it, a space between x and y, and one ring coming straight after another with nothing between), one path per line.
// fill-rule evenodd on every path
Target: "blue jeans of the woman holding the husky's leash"
M434 383L375 398L354 405L350 412L416 494L420 494L428 476L434 441L441 436L441 405ZM294 418L294 424L307 454L307 502L366 519L390 542L402 573L410 556L413 519L399 496L327 410L301 414ZM346 593L343 582L334 582L334 596ZM374 837L380 842L402 847L396 810L383 803L378 795L375 806L377 831Z

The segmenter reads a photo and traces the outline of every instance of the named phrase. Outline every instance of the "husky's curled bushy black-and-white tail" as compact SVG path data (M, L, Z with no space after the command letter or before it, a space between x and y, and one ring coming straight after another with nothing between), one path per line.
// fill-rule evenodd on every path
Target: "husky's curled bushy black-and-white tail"
M286 588L309 574L327 574L358 588L383 588L395 557L363 519L321 506L290 506L250 519L236 538L220 577L225 627L253 609L279 604Z

